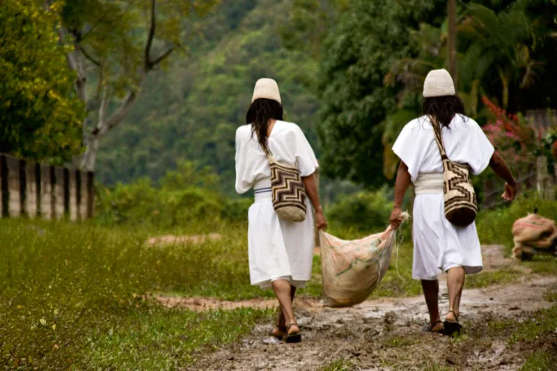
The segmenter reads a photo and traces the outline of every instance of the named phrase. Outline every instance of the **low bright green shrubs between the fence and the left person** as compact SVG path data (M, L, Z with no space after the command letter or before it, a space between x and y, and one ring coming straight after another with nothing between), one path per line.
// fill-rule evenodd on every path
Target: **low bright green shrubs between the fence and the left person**
M168 229L223 221L245 221L251 199L231 200L219 193L219 178L209 169L182 162L156 186L143 177L114 189L97 188L96 218L105 225Z

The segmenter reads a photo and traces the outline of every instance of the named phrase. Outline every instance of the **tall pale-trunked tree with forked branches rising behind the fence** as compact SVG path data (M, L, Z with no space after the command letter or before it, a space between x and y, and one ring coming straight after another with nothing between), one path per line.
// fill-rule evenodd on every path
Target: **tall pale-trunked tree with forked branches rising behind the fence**
M49 0L52 1L52 0ZM203 17L218 0L74 0L61 10L61 40L74 49L68 64L77 72L75 89L86 104L86 148L81 167L95 168L101 139L118 126L136 102L148 74L194 33L185 19ZM88 77L96 83L88 86Z

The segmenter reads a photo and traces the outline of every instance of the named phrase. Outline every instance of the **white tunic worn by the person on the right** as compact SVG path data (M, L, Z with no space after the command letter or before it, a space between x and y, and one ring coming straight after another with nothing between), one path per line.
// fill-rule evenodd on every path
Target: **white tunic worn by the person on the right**
M476 121L456 115L444 128L443 141L451 161L469 164L474 175L482 173L494 148ZM422 173L443 173L441 155L429 118L410 121L393 145L393 151L408 166L412 182ZM482 252L476 223L460 228L444 214L442 191L418 194L413 213L414 262L412 276L433 280L441 271L464 267L466 274L482 270Z

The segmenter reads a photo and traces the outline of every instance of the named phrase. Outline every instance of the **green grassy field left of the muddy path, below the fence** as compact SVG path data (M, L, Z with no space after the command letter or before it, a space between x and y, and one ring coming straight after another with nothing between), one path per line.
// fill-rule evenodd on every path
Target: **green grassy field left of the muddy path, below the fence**
M198 314L143 295L260 295L249 285L244 237L237 228L219 242L147 248L141 231L1 219L0 365L164 369L236 340L270 311Z

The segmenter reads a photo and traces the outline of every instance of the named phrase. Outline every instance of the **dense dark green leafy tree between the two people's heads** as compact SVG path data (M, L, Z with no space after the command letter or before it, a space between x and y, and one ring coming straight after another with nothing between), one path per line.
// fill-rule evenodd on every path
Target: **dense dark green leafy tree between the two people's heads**
M356 0L339 17L321 62L317 130L324 175L366 187L384 184L382 123L398 109L403 86L384 86L384 76L395 61L416 55L411 30L423 22L440 24L445 15L445 1Z

